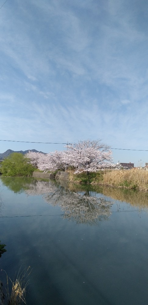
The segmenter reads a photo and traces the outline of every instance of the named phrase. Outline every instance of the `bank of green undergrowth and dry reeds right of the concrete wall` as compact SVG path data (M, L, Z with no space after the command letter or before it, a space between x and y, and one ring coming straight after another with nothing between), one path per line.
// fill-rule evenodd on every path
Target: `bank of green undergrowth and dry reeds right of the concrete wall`
M147 170L104 170L88 175L86 172L74 174L74 170L68 172L69 182L148 191Z

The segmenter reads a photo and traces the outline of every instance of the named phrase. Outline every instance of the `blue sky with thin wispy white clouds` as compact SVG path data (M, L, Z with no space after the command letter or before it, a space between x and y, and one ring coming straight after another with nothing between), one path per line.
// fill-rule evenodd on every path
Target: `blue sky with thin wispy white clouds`
M147 1L7 0L0 29L2 140L148 149ZM33 148L63 145L0 141L1 153ZM148 152L113 157L148 162Z

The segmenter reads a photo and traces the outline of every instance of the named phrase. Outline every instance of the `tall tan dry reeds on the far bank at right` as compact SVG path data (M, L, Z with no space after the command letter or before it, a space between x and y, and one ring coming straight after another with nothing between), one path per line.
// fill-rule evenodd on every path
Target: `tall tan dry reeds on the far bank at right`
M148 171L139 169L106 171L102 184L147 191Z

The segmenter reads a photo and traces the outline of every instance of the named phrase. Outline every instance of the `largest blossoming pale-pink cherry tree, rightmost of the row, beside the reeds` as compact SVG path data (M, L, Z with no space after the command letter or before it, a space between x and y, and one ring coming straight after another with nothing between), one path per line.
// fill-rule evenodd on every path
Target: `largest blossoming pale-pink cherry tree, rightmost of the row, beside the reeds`
M100 168L110 167L112 151L101 140L84 140L65 146L65 162L76 168L75 173L96 172Z

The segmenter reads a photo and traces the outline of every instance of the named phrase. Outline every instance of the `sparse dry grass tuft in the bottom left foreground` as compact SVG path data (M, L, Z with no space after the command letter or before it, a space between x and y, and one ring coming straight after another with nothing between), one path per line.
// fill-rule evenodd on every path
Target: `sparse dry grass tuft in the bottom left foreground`
M29 280L27 277L30 274L30 266L23 271L21 270L22 266L19 268L18 274L15 276L13 280L8 278L7 275L7 299L8 305L19 305L20 303L25 303L25 292L26 287L29 284ZM9 292L9 286L12 286L11 292Z

